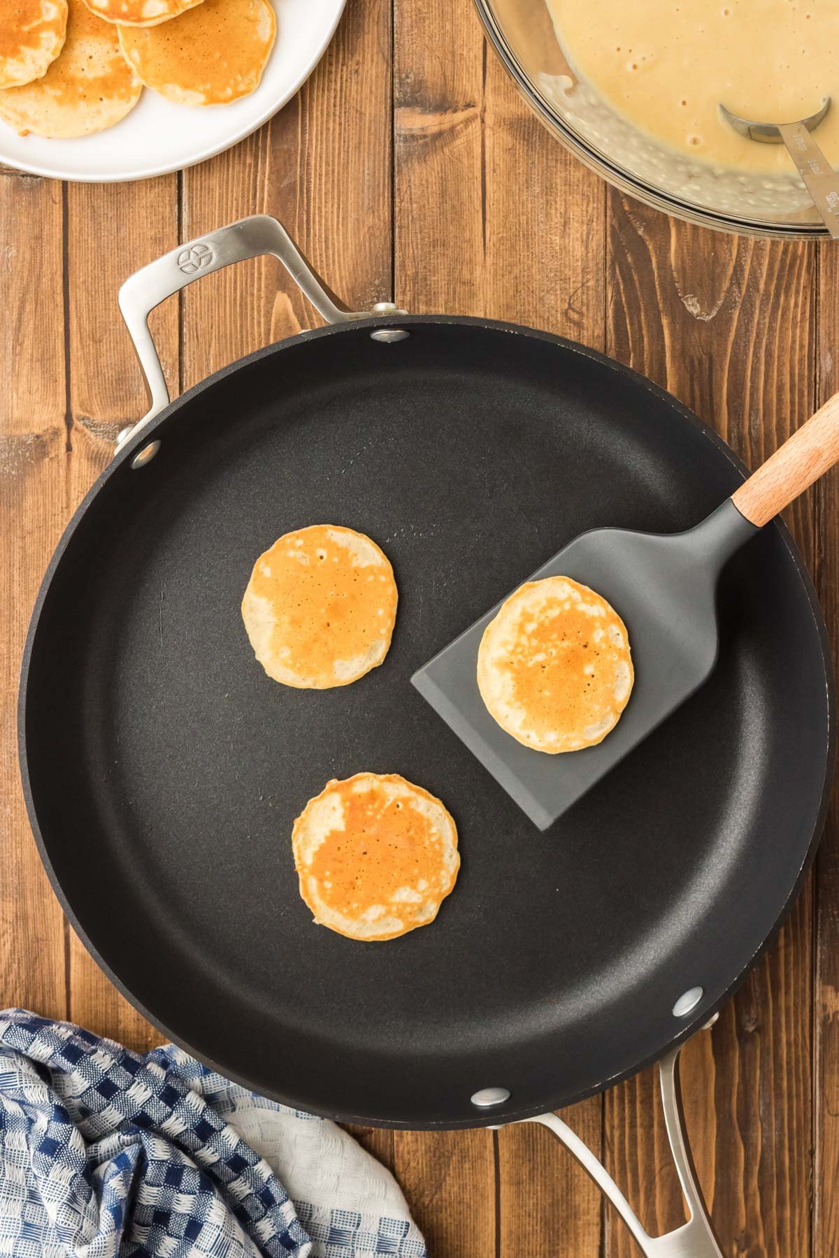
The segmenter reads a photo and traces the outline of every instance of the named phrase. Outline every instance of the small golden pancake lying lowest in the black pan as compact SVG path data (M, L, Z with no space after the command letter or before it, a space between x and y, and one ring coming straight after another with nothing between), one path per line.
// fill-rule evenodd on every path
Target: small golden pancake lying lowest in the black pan
M399 774L327 782L294 821L292 847L314 921L353 940L428 926L460 868L453 818Z

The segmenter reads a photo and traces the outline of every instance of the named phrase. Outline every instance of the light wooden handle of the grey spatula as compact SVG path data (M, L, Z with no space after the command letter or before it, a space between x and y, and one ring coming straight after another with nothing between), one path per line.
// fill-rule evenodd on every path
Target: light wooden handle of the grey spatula
M762 528L834 463L839 463L839 394L792 433L731 501L741 516Z

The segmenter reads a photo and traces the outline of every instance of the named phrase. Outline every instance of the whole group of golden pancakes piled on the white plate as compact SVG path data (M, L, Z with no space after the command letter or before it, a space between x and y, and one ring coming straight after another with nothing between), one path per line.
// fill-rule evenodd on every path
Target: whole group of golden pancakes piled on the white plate
M269 0L11 0L0 25L0 118L21 135L87 136L143 84L179 104L258 86L274 44Z

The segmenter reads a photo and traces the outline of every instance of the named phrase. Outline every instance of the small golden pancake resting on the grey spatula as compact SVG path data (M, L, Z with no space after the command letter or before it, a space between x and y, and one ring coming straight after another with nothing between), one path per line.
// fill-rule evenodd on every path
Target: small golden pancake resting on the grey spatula
M626 626L567 576L527 581L484 629L478 689L502 730L556 754L601 742L634 682Z

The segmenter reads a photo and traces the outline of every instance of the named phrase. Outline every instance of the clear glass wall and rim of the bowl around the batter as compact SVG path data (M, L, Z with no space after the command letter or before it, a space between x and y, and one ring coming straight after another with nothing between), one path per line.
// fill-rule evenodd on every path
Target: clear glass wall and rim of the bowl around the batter
M639 131L577 78L545 0L475 3L491 43L531 108L557 140L623 192L722 231L829 238L791 162L789 175L760 175L691 161Z

